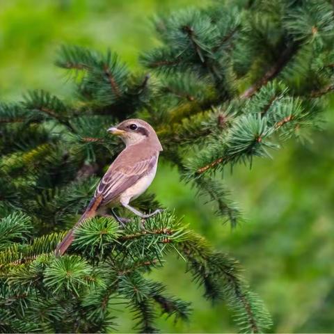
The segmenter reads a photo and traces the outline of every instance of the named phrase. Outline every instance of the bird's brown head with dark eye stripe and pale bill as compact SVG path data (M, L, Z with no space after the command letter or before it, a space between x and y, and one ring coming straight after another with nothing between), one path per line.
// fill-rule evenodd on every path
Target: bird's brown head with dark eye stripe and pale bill
M116 127L111 127L108 132L120 136L125 145L134 145L141 141L150 141L152 145L157 145L157 149L162 151L161 144L154 129L144 120L130 119L120 122Z

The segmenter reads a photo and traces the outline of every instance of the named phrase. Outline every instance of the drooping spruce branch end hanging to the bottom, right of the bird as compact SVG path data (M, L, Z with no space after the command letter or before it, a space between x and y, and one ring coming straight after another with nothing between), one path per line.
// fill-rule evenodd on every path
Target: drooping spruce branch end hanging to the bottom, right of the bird
M189 261L194 280L205 287L205 297L212 301L227 300L241 332L261 333L271 326L267 310L246 289L237 262L223 253L214 253L197 234L189 234L189 241L179 244L179 248Z

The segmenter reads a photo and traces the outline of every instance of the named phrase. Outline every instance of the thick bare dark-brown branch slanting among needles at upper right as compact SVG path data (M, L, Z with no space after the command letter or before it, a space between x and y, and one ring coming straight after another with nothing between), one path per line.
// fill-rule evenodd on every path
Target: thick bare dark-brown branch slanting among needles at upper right
M269 81L276 78L280 71L283 70L283 67L287 65L292 56L294 56L297 49L298 45L296 44L287 47L280 55L280 58L278 58L278 61L272 65L266 73L264 73L264 76L259 81L255 82L253 86L246 89L244 93L240 95L240 98L248 99L248 97L252 97L262 86L267 85Z

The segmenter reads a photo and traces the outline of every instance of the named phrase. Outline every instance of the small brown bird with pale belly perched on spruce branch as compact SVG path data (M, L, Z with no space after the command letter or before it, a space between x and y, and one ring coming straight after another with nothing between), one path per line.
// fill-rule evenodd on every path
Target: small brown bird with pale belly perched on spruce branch
M88 218L104 215L108 207L121 205L144 219L162 211L156 209L151 214L144 214L129 205L131 200L138 198L148 189L157 172L159 154L163 148L153 127L144 120L129 119L120 122L116 127L110 127L107 131L120 136L125 143L125 148L100 180L84 214L56 247L56 255L63 255L72 244L74 228ZM124 223L115 212L113 217L120 223Z

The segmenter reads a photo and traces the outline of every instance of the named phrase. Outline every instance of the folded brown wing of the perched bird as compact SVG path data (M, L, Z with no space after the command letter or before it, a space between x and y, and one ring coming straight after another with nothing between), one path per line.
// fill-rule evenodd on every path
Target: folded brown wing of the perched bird
M111 165L97 186L95 198L102 196L101 205L106 205L118 198L123 191L134 185L145 174L150 173L157 164L157 158L157 154L153 154L148 159L137 161L131 166L125 164L113 167Z

